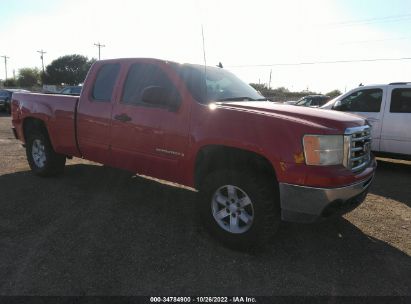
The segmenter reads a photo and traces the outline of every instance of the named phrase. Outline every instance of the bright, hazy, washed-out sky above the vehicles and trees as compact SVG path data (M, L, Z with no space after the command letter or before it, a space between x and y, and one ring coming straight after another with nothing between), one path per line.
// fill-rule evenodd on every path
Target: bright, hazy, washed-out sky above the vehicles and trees
M0 0L8 75L66 54L223 62L247 82L342 91L411 80L411 61L257 67L272 63L411 57L411 0ZM250 65L238 68L239 65ZM4 78L0 64L0 79Z

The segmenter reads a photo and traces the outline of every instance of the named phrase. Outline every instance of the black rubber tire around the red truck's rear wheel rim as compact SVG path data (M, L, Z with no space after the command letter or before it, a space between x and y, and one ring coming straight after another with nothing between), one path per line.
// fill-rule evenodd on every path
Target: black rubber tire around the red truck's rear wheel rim
M42 166L36 162L33 156L34 142L41 143L44 146L45 159ZM31 170L34 174L42 177L56 176L64 171L66 156L54 151L47 132L44 130L33 130L28 134L26 141L26 156Z

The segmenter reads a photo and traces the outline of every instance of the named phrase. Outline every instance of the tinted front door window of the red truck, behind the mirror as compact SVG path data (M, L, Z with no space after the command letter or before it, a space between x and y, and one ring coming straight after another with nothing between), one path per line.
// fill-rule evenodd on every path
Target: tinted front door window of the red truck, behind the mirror
M135 63L128 71L121 103L147 107L163 107L161 105L147 104L142 101L144 89L150 86L162 87L169 93L170 97L180 100L177 88L160 67L154 64Z

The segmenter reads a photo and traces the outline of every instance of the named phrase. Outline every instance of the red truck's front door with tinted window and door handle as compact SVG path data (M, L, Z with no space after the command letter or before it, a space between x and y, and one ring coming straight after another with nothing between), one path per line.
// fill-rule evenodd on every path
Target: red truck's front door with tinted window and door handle
M178 165L187 155L190 104L179 96L178 109L170 110L142 100L143 91L152 86L179 95L170 70L167 63L150 60L136 61L126 69L123 92L112 112L113 166L177 181Z

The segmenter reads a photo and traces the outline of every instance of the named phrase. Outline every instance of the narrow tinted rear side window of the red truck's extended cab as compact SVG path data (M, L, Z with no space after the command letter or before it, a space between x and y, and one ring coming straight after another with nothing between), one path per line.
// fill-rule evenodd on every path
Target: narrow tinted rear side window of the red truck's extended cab
M108 63L100 68L93 87L92 96L95 101L111 101L119 71L120 65L118 63Z

